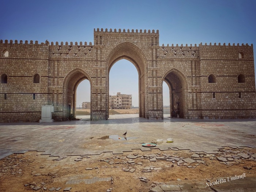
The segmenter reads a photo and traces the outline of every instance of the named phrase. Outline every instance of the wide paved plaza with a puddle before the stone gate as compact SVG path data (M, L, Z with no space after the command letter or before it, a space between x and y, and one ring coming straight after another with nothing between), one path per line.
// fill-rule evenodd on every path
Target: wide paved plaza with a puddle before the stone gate
M141 149L179 150L215 153L218 148L247 146L256 148L256 119L187 120L170 118L147 120L138 114L110 115L109 120L53 123L1 123L0 159L13 153L42 151L52 156L122 154ZM127 131L126 137L122 136ZM166 143L173 138L173 143ZM163 139L157 147L142 143Z

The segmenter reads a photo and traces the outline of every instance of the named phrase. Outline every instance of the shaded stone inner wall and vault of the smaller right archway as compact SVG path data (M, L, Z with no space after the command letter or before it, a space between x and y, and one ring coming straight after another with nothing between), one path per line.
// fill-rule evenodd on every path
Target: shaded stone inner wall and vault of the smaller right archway
M185 93L186 93L186 81L184 76L177 71L172 69L167 72L163 78L163 82L169 87L169 97L170 97L170 114L171 117L181 117L184 118L185 111L187 107L185 105Z

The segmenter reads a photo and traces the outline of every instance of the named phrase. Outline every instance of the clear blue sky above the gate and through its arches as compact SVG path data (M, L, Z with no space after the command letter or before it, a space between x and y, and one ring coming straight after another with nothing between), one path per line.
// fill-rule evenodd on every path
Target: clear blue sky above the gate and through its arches
M160 45L230 42L256 46L255 0L8 0L1 1L0 7L3 40L93 42L94 28L112 28L159 30ZM114 75L120 69L125 73ZM118 88L116 79L127 86ZM84 81L78 86L78 106L90 101L88 84ZM138 72L126 60L110 71L109 93L117 92L132 94L133 105L138 106ZM167 93L164 84L164 105L169 105Z

